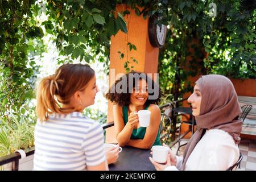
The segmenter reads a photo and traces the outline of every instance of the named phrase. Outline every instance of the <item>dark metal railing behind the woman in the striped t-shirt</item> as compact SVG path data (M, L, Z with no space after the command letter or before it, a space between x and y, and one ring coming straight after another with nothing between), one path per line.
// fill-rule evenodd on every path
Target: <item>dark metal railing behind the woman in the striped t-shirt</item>
M114 126L114 122L109 122L101 125L102 128L105 130L108 127ZM33 155L35 153L35 147L30 147L24 150L26 153L26 156ZM14 154L6 155L0 158L0 166L3 166L5 164L11 164L11 170L12 171L18 171L19 170L19 159L21 159L22 156L19 154L19 152L15 152Z

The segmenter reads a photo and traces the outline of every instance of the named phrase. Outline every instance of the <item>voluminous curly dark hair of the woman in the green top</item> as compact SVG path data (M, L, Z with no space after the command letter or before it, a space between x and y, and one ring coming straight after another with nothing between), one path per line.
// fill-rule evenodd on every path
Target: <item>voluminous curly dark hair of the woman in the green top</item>
M133 76L132 80L130 79L130 76L129 74L132 74L130 76ZM113 102L113 104L118 104L119 106L129 106L131 104L130 102L130 93L131 93L131 90L135 87L135 85L137 85L138 83L138 79L135 79L135 75L138 74L137 76L139 76L139 80L141 79L144 79L147 84L148 82L152 83L152 93L151 92L148 92L148 98L150 96L154 96L155 92L158 92L158 97L156 99L148 99L147 98L147 101L146 101L146 105L148 104L156 104L158 105L159 102L160 102L160 98L162 97L162 91L160 90L159 88L159 85L157 85L154 80L152 80L149 76L147 76L147 74L145 73L141 73L141 72L130 72L130 73L126 73L126 75L123 75L121 78L119 78L117 81L115 81L115 83L109 88L109 91L108 93L106 93L105 97ZM122 80L125 79L126 80L126 93L117 93L116 92L116 86L117 84L120 85ZM131 81L133 81L133 87L130 86L129 82L131 83ZM129 85L129 86L128 86ZM122 88L122 85L120 85L120 89L123 89Z

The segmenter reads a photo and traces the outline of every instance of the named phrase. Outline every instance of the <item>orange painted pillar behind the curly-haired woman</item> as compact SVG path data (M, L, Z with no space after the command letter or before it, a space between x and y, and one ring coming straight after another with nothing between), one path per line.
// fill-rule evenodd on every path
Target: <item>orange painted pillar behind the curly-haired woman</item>
M130 11L129 15L125 15L127 26L127 34L119 31L111 38L110 46L110 72L109 72L109 86L114 84L122 75L119 73L126 73L124 68L125 62L130 62L129 67L134 67L134 71L144 73L157 73L158 71L158 54L159 48L152 47L148 38L148 18L143 19L143 16L137 16L135 11L126 5L117 6L116 12ZM142 10L142 9L140 9ZM137 50L129 50L127 43L132 43L136 46ZM120 59L120 53L124 54ZM133 57L133 58L131 58ZM134 63L133 59L138 63ZM108 103L108 122L114 121L113 119L113 104ZM106 142L117 143L115 139L114 127L106 129Z

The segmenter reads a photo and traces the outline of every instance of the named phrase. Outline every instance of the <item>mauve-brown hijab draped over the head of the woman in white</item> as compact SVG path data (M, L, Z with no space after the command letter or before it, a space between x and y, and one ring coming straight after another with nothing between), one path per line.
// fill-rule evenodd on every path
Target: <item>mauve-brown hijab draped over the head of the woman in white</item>
M224 130L233 137L236 144L240 143L242 121L238 120L238 115L242 110L232 82L225 76L206 75L201 76L196 84L201 93L200 115L195 117L197 131L185 148L182 170L206 129Z

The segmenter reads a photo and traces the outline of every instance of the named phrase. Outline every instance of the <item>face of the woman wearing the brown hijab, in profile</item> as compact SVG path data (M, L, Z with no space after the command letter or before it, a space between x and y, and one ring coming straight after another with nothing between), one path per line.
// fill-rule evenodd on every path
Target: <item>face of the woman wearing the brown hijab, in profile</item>
M199 85L196 84L194 86L194 92L188 98L188 102L191 103L192 106L193 116L200 115L201 99L202 94L200 92Z

